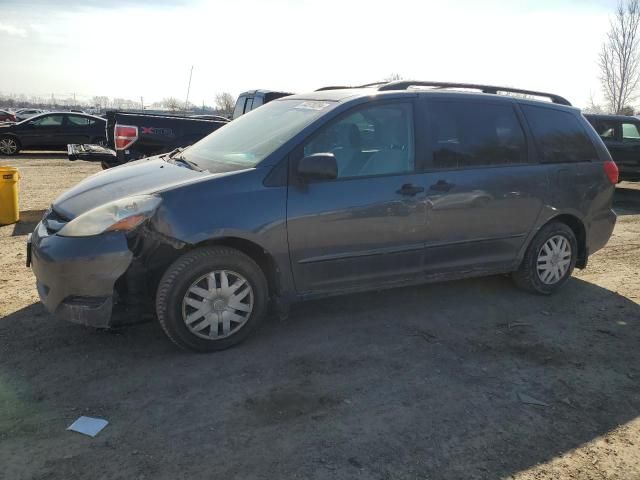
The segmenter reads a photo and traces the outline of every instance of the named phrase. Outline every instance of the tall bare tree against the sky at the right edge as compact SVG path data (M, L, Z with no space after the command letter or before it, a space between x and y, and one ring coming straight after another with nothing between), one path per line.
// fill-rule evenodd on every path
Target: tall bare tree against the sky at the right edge
M612 113L635 97L640 81L640 0L620 0L600 51L600 81Z

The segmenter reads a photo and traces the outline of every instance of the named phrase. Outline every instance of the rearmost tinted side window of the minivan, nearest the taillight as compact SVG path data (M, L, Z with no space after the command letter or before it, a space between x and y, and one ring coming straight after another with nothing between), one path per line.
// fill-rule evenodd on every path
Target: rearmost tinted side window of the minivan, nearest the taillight
M597 160L596 149L578 118L562 110L522 105L545 163Z

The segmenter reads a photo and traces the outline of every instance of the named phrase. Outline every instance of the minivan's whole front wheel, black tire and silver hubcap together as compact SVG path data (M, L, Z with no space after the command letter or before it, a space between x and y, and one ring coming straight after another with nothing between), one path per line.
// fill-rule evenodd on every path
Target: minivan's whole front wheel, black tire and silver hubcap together
M156 294L158 320L178 346L198 352L229 348L258 326L267 306L267 281L244 253L206 247L178 258Z

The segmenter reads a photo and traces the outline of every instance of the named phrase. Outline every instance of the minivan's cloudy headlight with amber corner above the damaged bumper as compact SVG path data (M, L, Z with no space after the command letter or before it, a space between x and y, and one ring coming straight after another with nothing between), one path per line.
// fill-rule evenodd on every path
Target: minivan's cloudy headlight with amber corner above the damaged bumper
M89 237L104 232L129 231L136 228L160 205L155 195L121 198L77 216L60 229L63 237Z

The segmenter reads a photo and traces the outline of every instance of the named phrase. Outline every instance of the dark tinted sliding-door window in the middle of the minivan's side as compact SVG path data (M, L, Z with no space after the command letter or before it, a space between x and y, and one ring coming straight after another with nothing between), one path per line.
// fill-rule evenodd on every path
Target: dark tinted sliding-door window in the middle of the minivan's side
M510 104L433 102L429 118L434 168L527 161L524 132Z

